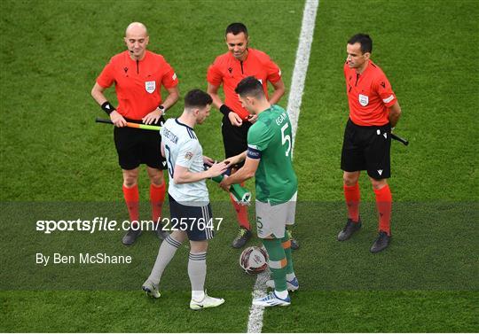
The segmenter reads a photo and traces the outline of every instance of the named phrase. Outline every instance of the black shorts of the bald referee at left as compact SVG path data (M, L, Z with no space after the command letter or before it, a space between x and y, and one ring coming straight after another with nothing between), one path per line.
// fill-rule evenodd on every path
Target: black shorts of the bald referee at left
M127 120L138 123L137 120ZM154 125L163 124L160 122ZM153 125L153 124L152 124ZM140 164L157 169L167 169L166 160L161 156L160 132L141 128L114 127L114 145L118 152L118 163L122 169L135 169Z

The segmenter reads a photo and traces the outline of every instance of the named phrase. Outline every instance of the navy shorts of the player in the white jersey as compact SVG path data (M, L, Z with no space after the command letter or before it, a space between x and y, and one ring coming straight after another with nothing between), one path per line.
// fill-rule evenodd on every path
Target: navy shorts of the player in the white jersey
M168 194L170 229L183 230L192 241L203 241L215 236L211 206L184 206Z

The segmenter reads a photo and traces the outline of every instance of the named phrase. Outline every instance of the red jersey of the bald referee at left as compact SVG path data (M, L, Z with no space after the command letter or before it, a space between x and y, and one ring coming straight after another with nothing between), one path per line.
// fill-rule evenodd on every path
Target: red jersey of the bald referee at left
M161 105L161 85L166 89L176 87L178 79L163 56L147 50L145 58L133 60L126 50L110 59L97 83L103 88L114 83L118 113L131 120L141 120Z

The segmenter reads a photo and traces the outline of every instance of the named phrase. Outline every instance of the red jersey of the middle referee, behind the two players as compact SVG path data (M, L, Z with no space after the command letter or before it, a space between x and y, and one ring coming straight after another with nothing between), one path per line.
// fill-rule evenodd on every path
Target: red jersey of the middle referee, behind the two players
M247 76L258 79L263 84L264 94L268 97L268 82L279 82L281 70L263 51L247 49L247 58L244 61L234 58L229 51L218 56L209 66L207 74L207 80L212 85L220 86L223 82L224 104L238 113L243 120L247 120L249 113L241 106L234 89Z

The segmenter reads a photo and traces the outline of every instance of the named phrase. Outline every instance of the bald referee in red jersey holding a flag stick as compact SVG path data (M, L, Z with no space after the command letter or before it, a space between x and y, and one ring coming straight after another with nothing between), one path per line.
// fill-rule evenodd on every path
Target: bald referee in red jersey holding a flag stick
M137 223L139 165L145 164L150 178L150 202L152 218L161 218L161 206L165 198L163 170L166 161L161 157L161 136L157 132L137 128L126 128L126 122L156 124L162 115L178 99L177 74L159 54L146 50L149 42L144 24L131 23L125 32L128 50L115 55L99 74L91 89L91 96L110 116L114 128L114 144L118 152L118 162L123 173L123 195L130 214L132 226L122 239L124 245L132 245L141 234ZM115 85L118 106L111 105L104 90ZM168 90L168 97L161 98L161 85ZM167 232L156 229L158 237L167 237Z

